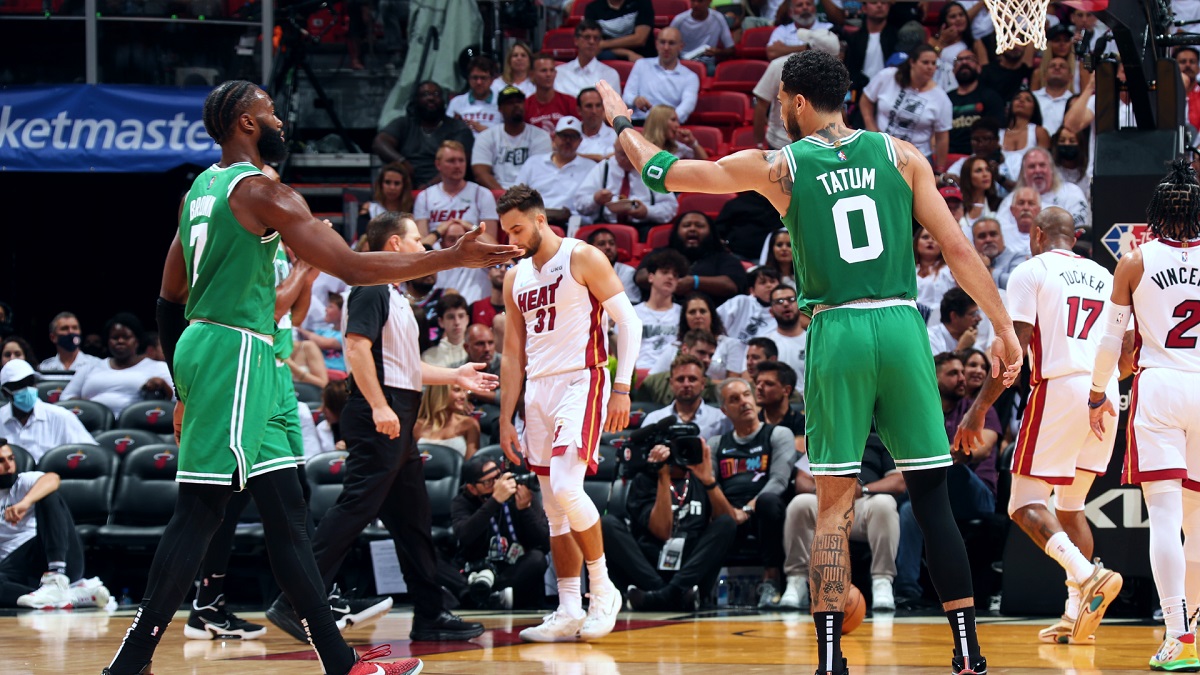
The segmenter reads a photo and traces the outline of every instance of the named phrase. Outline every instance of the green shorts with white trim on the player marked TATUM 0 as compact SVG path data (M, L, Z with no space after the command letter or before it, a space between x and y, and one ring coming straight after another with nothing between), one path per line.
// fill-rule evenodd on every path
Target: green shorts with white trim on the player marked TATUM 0
M901 471L949 466L929 333L911 305L816 313L804 362L805 441L814 476L853 476L871 419Z

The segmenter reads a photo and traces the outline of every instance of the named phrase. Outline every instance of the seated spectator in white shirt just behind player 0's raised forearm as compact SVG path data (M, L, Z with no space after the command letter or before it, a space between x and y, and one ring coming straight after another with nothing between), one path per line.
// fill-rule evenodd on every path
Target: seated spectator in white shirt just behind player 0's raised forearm
M614 207L614 201L622 205ZM670 222L678 209L674 193L660 195L642 183L642 174L625 156L620 141L613 143L613 155L592 167L575 191L574 210L589 222L661 225Z

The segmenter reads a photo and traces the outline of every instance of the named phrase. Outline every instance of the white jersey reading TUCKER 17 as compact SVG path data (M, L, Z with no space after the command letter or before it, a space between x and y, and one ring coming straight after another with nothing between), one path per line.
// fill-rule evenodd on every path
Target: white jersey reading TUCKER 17
M1112 274L1070 251L1046 251L1016 265L1008 277L1008 313L1033 324L1033 384L1092 372L1111 295Z

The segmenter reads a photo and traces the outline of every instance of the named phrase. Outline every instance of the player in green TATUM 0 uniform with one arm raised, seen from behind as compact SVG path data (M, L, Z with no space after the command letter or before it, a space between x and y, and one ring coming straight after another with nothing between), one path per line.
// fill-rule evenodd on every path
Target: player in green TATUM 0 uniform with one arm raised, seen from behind
M806 438L817 482L810 587L818 674L847 671L841 609L850 585L847 536L854 476L874 418L905 472L913 514L931 542L930 575L954 633L955 674L982 674L966 548L946 489L952 464L925 322L914 298L916 217L941 243L955 279L991 318L994 372L1020 368L1013 322L996 286L937 192L929 162L908 143L842 125L850 76L835 56L809 50L784 66L779 100L794 141L716 162L679 161L630 129L620 96L598 83L605 114L634 166L655 190L743 192L768 199L792 235L808 331Z

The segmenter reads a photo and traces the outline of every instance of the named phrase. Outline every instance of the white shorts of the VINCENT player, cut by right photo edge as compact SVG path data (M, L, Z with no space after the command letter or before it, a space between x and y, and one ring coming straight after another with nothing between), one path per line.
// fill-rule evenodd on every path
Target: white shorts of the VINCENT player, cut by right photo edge
M1151 368L1133 380L1126 483L1182 479L1200 491L1200 372Z

